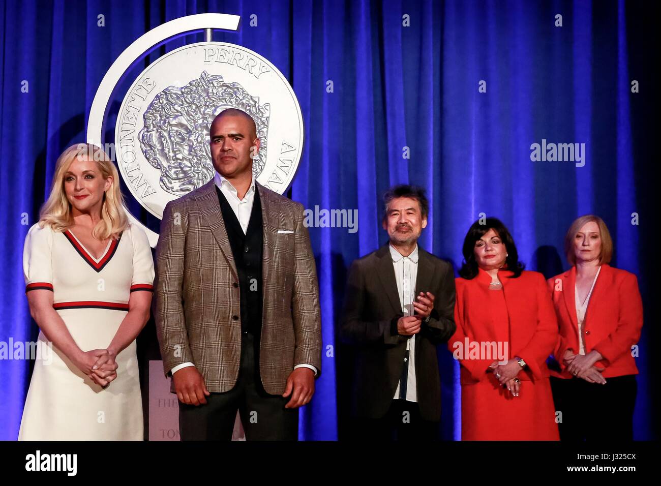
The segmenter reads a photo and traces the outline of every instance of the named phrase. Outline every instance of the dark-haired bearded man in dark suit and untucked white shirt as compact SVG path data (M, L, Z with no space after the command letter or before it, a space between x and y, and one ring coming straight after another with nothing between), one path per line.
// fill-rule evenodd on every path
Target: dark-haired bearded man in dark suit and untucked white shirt
M342 339L356 344L356 426L366 438L436 438L436 346L455 331L454 273L418 246L429 208L422 189L395 186L383 203L389 243L354 261L342 311Z

